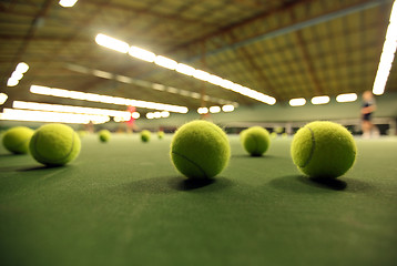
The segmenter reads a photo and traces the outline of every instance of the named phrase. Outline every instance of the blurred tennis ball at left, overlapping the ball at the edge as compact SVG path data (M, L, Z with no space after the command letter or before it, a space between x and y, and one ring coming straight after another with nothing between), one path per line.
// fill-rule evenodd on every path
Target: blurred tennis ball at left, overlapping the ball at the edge
M63 165L79 155L81 142L79 135L69 125L47 124L34 132L29 149L39 163Z

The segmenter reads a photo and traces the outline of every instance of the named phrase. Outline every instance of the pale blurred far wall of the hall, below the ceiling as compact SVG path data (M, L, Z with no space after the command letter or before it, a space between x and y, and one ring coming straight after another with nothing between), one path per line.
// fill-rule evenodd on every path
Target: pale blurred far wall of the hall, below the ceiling
M385 121L393 121L397 119L397 93L386 93L376 98L377 110L375 117L378 123L389 123ZM360 101L352 103L337 103L335 99L328 104L313 105L306 103L304 106L292 108L288 103L276 103L271 106L267 104L258 103L256 105L246 108L237 108L231 113L211 114L207 120L211 120L223 126L244 127L254 124L264 126L285 125L286 123L303 124L313 120L333 120L333 121L347 121L347 123L359 124ZM386 117L386 119L384 119ZM136 121L136 126L141 129L157 130L159 127L177 127L191 120L200 119L195 110L191 110L187 114L171 114L167 119L147 120L145 117ZM0 127L10 127L14 125L27 125L30 127L38 127L41 123L37 122L14 122L14 121L0 121ZM83 125L72 125L77 130L84 129ZM95 130L110 129L116 131L124 129L124 124L109 122L103 125L95 125Z

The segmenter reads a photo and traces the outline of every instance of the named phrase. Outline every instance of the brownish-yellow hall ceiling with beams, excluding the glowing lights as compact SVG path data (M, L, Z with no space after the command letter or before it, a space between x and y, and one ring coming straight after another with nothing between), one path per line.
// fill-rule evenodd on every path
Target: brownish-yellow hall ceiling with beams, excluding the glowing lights
M12 101L109 104L32 94L31 84L187 106L259 103L217 85L100 47L98 33L264 94L293 98L371 90L393 1L0 1L1 91ZM7 80L30 66L17 86ZM110 74L109 74L110 73ZM123 82L115 76L128 76ZM397 91L394 66L386 92ZM263 103L265 104L265 103ZM114 105L113 109L125 110ZM147 110L139 110L147 112Z

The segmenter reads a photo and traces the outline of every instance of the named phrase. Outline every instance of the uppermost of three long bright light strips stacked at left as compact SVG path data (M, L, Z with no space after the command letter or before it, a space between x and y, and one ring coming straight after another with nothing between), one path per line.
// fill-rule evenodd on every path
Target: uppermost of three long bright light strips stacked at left
M156 102L146 102L133 99L124 99L109 95L101 95L86 92L69 91L63 89L54 89L48 86L31 85L30 92L42 95L59 96L59 98L69 98L75 100L84 100L90 102L101 102L119 105L131 105L135 108L144 109L154 109L161 111L169 111L175 113L187 113L189 109L186 106L179 106L173 104L156 103Z

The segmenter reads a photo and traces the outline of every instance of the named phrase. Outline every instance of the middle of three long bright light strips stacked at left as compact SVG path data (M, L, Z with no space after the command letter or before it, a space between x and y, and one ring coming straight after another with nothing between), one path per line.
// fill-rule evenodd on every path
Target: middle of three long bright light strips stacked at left
M130 112L111 110L111 109L94 109L94 108L82 108L82 106L74 106L74 105L61 105L61 104L23 102L23 101L13 101L12 108L37 110L37 111L61 112L61 113L80 113L80 114L119 116L119 117L125 117L128 120L131 119Z

